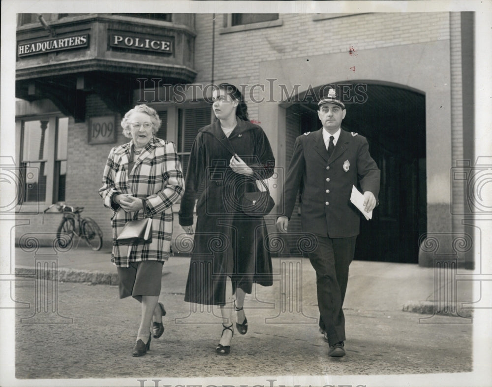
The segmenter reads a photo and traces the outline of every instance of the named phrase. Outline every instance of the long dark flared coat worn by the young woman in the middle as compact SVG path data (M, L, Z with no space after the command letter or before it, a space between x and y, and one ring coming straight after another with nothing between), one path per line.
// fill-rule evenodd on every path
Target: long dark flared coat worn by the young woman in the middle
M251 293L253 282L273 284L265 221L249 217L237 207L238 198L245 191L253 191L255 182L235 173L229 161L236 152L257 179L266 179L273 175L275 159L263 129L239 118L237 121L229 138L218 120L200 129L191 148L179 213L181 226L193 224L200 186L203 191L196 204L194 248L184 296L188 302L223 304L227 276L233 280L233 291L240 287Z

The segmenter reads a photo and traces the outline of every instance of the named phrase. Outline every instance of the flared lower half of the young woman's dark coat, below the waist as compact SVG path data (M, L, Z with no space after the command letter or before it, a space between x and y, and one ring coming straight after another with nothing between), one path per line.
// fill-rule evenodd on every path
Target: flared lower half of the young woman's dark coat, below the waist
M272 286L272 258L266 243L263 218L199 217L184 300L223 305L227 277L231 277L233 293L241 288L250 294L253 283Z

